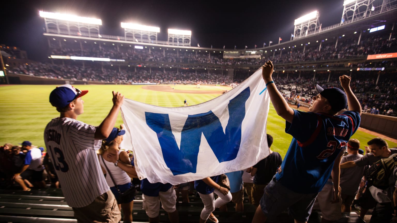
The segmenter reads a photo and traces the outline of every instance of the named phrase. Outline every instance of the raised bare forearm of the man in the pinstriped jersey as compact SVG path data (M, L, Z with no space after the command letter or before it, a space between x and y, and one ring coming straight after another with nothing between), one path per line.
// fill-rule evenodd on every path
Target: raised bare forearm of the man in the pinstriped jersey
M95 140L108 138L109 134L112 132L114 124L116 124L116 119L119 114L120 107L123 104L124 96L121 93L115 93L114 91L112 92L112 94L112 109L110 109L109 114L105 117L102 123L100 123L98 128L96 128Z

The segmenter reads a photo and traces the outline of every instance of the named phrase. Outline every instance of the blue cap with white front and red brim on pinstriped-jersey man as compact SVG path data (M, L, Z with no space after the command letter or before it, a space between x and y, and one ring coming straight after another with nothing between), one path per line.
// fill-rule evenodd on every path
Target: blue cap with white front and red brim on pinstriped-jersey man
M64 108L70 102L88 93L88 90L79 90L71 85L56 87L50 94L50 103L56 108Z

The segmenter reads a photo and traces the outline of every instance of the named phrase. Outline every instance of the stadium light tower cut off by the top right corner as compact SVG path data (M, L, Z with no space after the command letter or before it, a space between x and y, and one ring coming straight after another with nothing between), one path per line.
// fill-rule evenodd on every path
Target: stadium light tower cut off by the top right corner
M393 6L395 8L395 6ZM341 25L351 23L358 19L364 19L371 14L379 14L391 8L390 0L345 0L343 1L343 13Z

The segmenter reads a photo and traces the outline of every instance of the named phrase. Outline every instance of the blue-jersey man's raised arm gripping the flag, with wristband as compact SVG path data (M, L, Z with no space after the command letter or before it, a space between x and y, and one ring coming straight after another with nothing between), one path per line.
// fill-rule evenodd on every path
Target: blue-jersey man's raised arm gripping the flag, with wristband
M283 98L281 93L278 91L276 84L273 82L273 68L273 63L270 60L266 62L262 66L262 78L267 85L266 87L270 95L270 100L272 101L277 114L285 119L285 121L292 123L294 110L288 106L287 101Z

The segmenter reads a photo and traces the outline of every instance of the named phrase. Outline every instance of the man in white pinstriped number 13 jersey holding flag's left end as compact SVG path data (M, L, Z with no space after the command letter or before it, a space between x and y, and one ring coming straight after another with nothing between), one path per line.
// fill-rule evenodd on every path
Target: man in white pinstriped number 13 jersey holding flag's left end
M77 121L84 112L81 97L88 90L71 85L55 88L50 103L60 112L44 130L44 142L62 185L66 203L73 208L78 222L117 223L121 214L100 167L96 150L108 138L124 96L113 93L113 106L99 126Z

